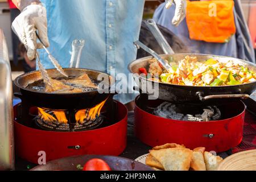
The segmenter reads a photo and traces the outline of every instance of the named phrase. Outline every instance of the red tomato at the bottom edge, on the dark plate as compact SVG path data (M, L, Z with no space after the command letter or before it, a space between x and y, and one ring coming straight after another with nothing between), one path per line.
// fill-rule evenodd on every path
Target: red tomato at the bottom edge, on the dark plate
M111 171L111 169L102 159L90 159L84 164L82 171Z

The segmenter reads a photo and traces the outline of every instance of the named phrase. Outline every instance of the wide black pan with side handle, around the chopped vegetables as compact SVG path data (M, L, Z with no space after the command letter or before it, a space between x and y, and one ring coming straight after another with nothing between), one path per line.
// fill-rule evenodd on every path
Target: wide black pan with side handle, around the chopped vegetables
M167 60L179 61L184 59L187 55L196 56L199 61L214 58L225 63L226 61L233 60L234 63L243 64L254 72L256 71L256 64L233 57L189 53L161 55L161 57ZM148 68L148 61L151 59L152 57L149 56L135 60L129 64L128 69L131 73L140 74L139 68ZM137 82L139 89L141 89L143 93L152 94L148 92L144 86L152 84L154 86L154 90L159 92L159 99L181 104L220 105L229 101L248 98L249 94L253 93L256 89L256 82L234 86L183 86L151 81L145 77L139 76L138 74L134 74L135 82Z

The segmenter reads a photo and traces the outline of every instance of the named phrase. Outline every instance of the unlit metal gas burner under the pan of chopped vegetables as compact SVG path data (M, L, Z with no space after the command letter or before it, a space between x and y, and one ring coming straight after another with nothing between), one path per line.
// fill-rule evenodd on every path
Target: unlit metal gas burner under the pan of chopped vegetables
M153 114L168 119L197 122L216 121L221 117L221 111L216 106L175 105L170 102L160 104Z

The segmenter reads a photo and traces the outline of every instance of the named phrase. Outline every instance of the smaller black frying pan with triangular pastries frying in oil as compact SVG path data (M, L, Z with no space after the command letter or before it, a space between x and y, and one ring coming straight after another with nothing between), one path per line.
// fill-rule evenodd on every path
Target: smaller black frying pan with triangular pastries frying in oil
M27 89L26 87L28 84L42 79L41 73L39 71L35 71L26 73L15 79L14 83L19 87L21 93L18 97L26 99L33 106L48 109L86 109L96 106L110 96L110 83L112 83L111 80L113 79L110 75L80 68L67 68L64 69L64 71L68 76L80 76L83 73L86 73L93 80L97 80L98 75L102 74L105 78L103 82L106 85L104 89L102 89L104 93L99 93L97 89L82 93L47 93ZM49 77L61 77L60 73L57 72L56 69L48 69L47 72Z

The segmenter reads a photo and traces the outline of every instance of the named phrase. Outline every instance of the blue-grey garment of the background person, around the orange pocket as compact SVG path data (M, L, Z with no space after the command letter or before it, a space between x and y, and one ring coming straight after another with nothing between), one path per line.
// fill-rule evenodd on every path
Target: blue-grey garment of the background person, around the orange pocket
M195 0L194 0L195 1ZM192 53L205 53L212 55L237 57L239 59L255 63L255 54L253 44L251 43L249 28L242 13L241 0L234 1L234 21L236 24L236 34L234 34L227 43L212 43L189 38L189 31L186 19L180 22L176 27L171 24L171 16L175 14L175 8L165 8L162 3L155 10L154 20L163 27L168 28L183 43L191 49Z

